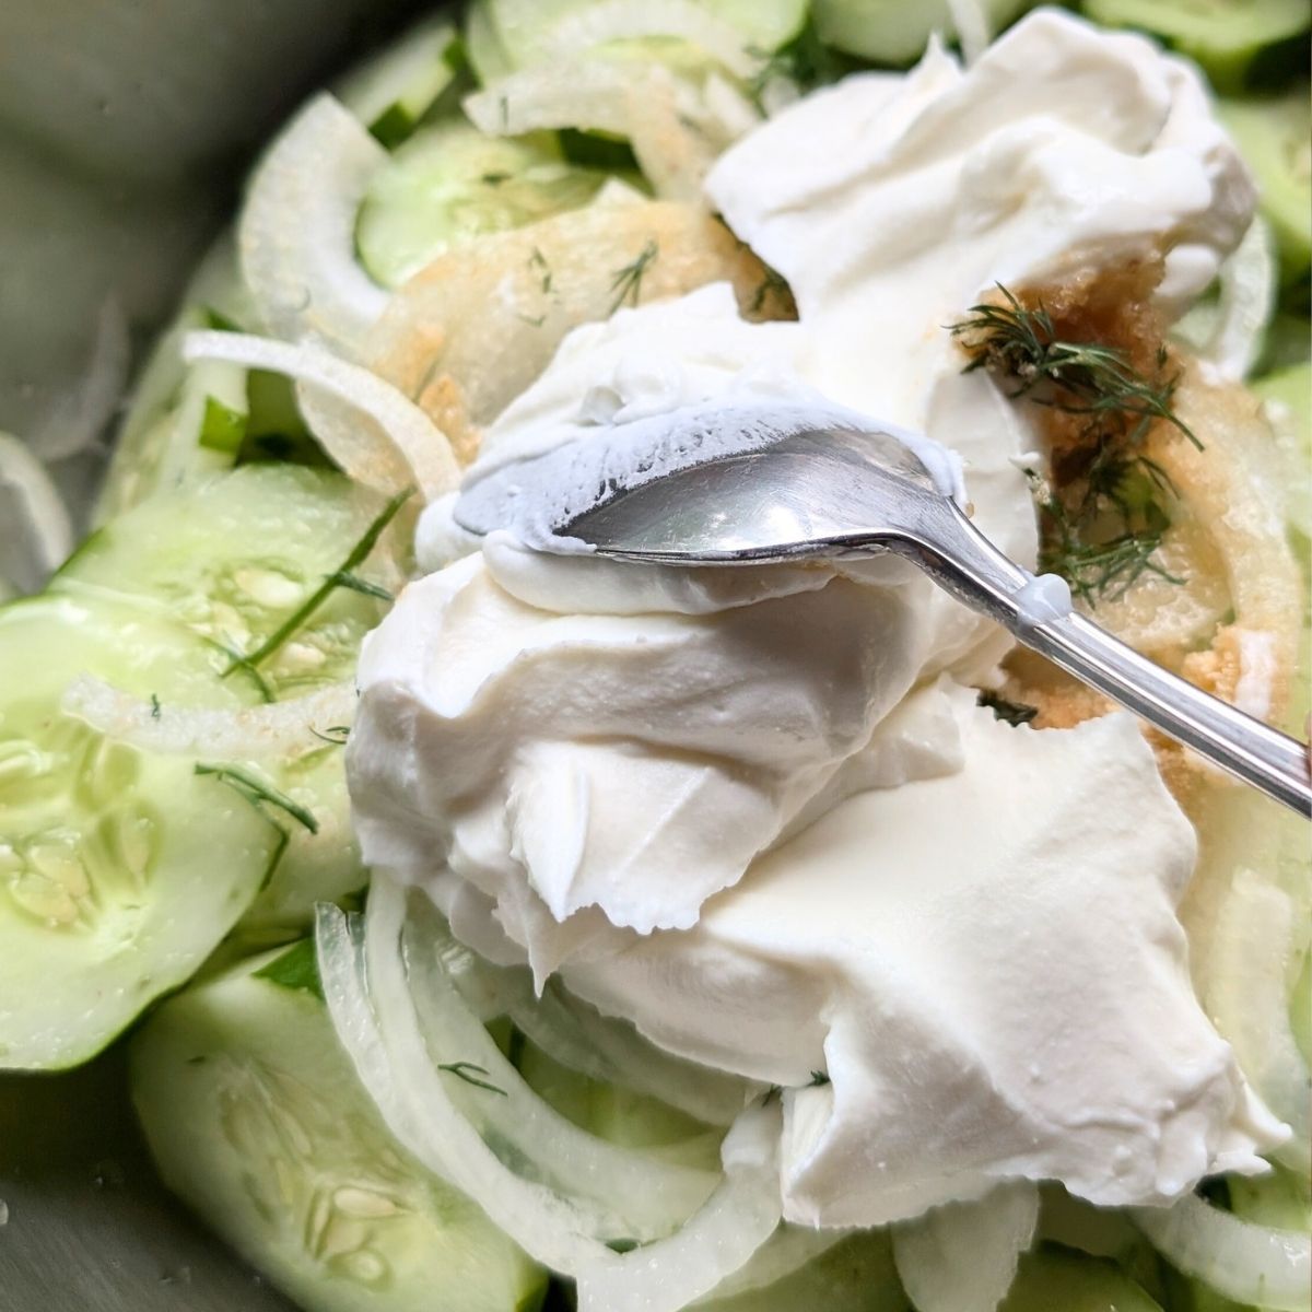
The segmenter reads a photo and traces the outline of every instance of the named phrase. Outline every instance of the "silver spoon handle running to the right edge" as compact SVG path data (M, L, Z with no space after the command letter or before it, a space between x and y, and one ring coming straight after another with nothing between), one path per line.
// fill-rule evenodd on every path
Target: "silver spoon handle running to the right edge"
M955 505L945 504L951 516L934 523L933 541L917 533L886 546L1081 682L1312 819L1305 744L1162 669L1084 615L1036 615L1033 602L1021 597L1034 576L998 551Z

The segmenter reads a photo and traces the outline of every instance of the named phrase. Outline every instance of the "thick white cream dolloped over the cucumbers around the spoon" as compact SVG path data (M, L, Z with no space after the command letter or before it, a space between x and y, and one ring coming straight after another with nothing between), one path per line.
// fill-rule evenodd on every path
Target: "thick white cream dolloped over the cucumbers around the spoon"
M800 323L707 287L577 329L474 488L800 387L956 451L983 530L1033 564L1035 433L945 325L994 281L1153 252L1174 311L1252 203L1183 64L1052 13L968 72L932 50L808 97L708 193ZM896 560L647 569L530 550L509 510L520 538L467 554L451 512L425 512L437 572L359 666L365 861L495 960L794 1088L790 1218L876 1224L1013 1177L1153 1203L1261 1169L1282 1130L1190 991L1194 836L1128 719L996 723L962 684L1009 640ZM1067 598L1038 579L1022 605Z

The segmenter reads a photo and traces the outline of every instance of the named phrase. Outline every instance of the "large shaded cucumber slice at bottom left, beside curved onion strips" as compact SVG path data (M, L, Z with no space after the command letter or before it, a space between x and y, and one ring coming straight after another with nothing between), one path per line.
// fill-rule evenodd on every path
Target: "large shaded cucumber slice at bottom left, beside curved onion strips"
M538 1307L541 1269L391 1139L306 966L247 962L134 1040L165 1183L308 1312Z

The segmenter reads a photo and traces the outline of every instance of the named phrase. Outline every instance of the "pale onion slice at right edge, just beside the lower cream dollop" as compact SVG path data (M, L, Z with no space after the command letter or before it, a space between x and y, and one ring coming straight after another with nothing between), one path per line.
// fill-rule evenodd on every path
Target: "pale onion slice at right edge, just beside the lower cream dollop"
M1275 1155L1305 1173L1312 1166L1312 1078L1290 1023L1295 926L1288 893L1252 870L1237 870L1208 954L1207 1005L1244 1075L1294 1131Z

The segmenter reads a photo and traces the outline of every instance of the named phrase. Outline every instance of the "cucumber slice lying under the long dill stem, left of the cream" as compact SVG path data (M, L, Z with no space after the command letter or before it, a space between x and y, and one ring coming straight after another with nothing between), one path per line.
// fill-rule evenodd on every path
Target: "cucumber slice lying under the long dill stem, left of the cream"
M251 655L342 563L377 501L328 470L245 464L173 496L144 501L93 534L55 575L62 593L113 592L163 605L211 643ZM379 548L362 567L390 588ZM256 669L269 699L349 678L380 598L335 589Z

